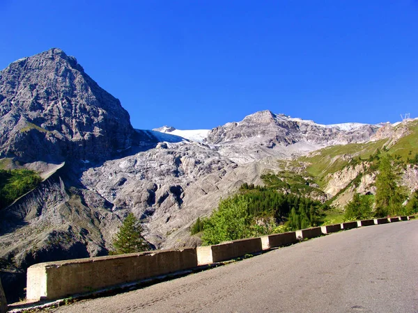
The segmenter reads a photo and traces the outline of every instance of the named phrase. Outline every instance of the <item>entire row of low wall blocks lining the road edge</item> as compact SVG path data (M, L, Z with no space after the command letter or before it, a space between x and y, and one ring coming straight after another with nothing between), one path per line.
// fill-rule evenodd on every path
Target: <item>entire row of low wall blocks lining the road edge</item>
M312 227L296 232L229 241L213 246L35 264L28 268L26 298L28 300L52 300L83 294L95 289L116 287L127 282L153 278L200 265L255 254L270 248L287 246L296 243L299 239L310 239L357 226L384 224L389 223L392 219L405 220L405 218L415 218L415 216L358 220ZM3 313L1 311L3 303L1 291L3 289L1 289L0 282L0 313Z

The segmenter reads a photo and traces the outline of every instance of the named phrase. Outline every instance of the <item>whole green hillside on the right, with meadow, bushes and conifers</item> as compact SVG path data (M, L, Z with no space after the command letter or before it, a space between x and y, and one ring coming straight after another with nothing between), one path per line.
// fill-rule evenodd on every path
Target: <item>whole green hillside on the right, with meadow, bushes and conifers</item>
M213 244L321 223L417 213L418 191L408 197L398 182L407 164L418 164L418 121L399 127L403 128L396 127L396 134L407 133L399 139L396 135L371 143L326 147L297 160L279 161L281 168L291 170L261 176L265 186L242 184L238 195L222 200L210 218L196 220L192 233L202 233L203 243ZM331 175L357 165L362 165L357 177L325 201L326 194L320 188L327 185ZM371 173L377 173L376 196L355 193L344 211L329 206L346 191L355 191L362 177ZM403 205L407 198L408 204Z

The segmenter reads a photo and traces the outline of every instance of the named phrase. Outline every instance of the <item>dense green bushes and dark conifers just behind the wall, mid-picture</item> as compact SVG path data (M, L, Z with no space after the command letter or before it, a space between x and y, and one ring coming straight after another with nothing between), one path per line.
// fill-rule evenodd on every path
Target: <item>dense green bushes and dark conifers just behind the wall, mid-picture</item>
M322 223L325 204L272 188L243 184L240 193L219 202L209 218L198 218L191 232L203 244L261 236Z

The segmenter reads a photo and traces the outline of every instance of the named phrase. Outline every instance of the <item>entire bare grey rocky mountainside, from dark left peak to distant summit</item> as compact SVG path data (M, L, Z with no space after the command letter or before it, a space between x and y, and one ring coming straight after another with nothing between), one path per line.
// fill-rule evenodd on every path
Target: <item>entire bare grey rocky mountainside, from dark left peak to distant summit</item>
M376 128L263 111L196 143L134 130L118 100L59 49L16 61L0 72L1 157L46 180L0 211L1 279L10 290L33 263L107 254L130 211L155 248L196 245L189 225L243 182L261 184L277 158L367 141Z

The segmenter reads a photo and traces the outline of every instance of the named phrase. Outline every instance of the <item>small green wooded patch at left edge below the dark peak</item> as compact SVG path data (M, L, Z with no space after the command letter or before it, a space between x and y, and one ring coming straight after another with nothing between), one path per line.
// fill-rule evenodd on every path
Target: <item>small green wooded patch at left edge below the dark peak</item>
M0 209L36 188L40 182L42 179L33 170L0 170Z

